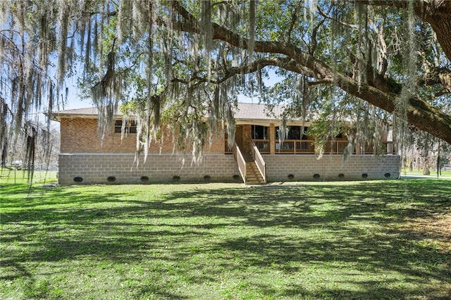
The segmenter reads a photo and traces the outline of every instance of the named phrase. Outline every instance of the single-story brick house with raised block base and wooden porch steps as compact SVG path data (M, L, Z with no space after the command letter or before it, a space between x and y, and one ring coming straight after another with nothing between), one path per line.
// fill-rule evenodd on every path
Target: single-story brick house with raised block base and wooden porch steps
M304 180L374 180L397 178L400 156L393 142L385 140L385 154L374 155L371 146L359 145L342 159L348 144L338 136L326 144L318 159L308 134L309 123L287 123L285 139L279 139L280 120L268 117L264 104L238 104L235 113L235 145L227 137L215 137L205 146L202 161L192 164L190 154L177 154L166 139L152 143L145 163L134 166L136 128L121 139L122 115L116 115L109 135L100 141L97 108L54 113L61 124L58 181L61 185L151 182L285 182ZM302 136L301 136L302 134Z

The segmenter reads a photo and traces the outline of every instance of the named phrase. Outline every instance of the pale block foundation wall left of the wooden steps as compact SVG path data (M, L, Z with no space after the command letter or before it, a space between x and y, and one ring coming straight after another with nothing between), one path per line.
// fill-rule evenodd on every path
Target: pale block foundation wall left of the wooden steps
M242 182L240 172L231 154L206 154L202 163L192 165L191 156L150 154L138 168L133 165L133 154L60 154L58 182L73 185L75 177L82 184L116 184L152 182ZM235 175L235 177L234 177ZM147 176L148 181L141 177ZM179 179L178 179L179 178Z

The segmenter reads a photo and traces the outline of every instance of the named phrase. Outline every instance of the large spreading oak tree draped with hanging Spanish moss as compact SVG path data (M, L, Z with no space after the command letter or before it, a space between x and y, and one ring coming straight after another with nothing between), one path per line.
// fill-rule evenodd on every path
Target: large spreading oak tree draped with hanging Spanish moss
M283 104L286 118L350 118L356 138L390 125L451 143L451 1L11 0L0 11L2 149L32 108L51 115L67 76L101 108L100 133L123 101L144 151L161 123L196 157L209 130L233 136L239 94Z

